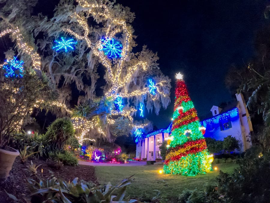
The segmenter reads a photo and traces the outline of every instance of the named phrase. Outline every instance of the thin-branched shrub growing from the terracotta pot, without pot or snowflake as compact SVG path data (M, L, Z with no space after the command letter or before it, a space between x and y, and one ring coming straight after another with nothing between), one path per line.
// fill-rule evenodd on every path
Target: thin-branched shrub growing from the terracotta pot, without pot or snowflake
M50 99L49 84L30 67L24 67L23 78L6 78L0 69L0 112L5 122L0 122L0 148L7 145L22 121L24 125L29 118L29 111L37 100ZM16 94L14 94L16 92Z

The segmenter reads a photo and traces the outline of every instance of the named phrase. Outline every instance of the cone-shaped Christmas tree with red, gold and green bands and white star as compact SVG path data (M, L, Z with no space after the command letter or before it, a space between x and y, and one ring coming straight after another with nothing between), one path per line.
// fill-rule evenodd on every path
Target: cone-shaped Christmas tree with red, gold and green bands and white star
M176 74L172 139L164 163L167 174L194 176L211 171L203 127L188 96L183 75Z

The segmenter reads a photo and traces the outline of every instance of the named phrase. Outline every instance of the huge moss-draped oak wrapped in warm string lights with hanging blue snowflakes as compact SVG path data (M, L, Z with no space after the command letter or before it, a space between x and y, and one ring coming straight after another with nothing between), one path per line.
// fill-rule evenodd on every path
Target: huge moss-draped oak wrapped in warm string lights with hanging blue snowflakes
M78 0L73 4L60 0L53 17L30 16L26 8L34 8L36 2L7 2L0 10L0 26L6 30L3 35L9 32L17 49L28 51L33 65L46 72L58 89L56 101L40 100L37 106L58 116L69 115L81 142L92 138L89 134L110 139L110 134L116 134L110 125L119 116L130 121L131 131L147 128L147 123L133 124L137 110L158 115L161 107L167 108L170 79L159 70L156 53L146 46L140 52L132 51L136 46L130 24L134 14L129 8L114 1ZM10 10L18 5L22 8L19 12ZM29 44L20 43L22 39L28 39ZM100 77L105 79L102 87ZM73 84L80 95L71 110ZM103 89L101 96L97 96L97 88ZM90 110L79 115L87 106ZM127 123L125 119L117 122Z

